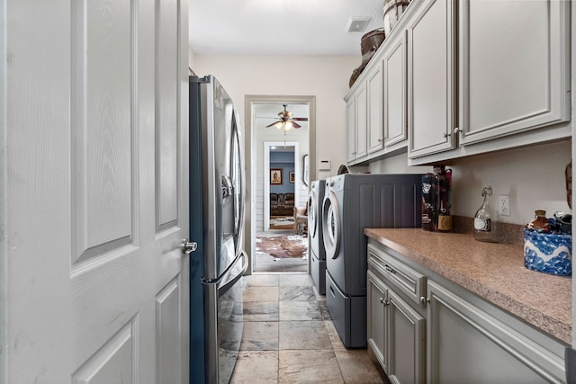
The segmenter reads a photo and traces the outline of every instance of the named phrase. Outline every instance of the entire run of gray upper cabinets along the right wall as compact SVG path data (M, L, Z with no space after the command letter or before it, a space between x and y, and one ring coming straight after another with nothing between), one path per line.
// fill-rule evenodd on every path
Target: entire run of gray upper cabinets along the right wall
M408 147L408 165L438 164L571 138L571 6L412 0L345 98L348 163Z

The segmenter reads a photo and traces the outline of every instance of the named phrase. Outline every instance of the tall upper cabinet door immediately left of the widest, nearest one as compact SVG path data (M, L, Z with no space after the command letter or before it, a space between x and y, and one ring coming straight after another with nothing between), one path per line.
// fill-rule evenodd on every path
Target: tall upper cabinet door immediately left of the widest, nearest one
M454 1L425 0L407 26L410 158L455 147Z

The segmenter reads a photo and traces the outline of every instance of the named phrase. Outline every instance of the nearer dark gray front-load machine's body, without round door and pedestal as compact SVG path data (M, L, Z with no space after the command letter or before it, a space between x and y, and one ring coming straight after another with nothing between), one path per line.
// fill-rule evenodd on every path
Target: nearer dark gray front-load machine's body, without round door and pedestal
M340 290L366 295L364 228L421 226L421 183L422 174L342 174L327 181L340 222L337 255L327 255L326 268Z

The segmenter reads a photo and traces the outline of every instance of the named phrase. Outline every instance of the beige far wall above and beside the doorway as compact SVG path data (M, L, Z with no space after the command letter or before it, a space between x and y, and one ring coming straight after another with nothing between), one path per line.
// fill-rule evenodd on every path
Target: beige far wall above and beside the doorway
M189 55L198 76L218 78L245 121L247 94L316 96L316 159L330 160L336 174L346 164L348 80L362 61L358 57ZM312 165L311 165L312 166Z

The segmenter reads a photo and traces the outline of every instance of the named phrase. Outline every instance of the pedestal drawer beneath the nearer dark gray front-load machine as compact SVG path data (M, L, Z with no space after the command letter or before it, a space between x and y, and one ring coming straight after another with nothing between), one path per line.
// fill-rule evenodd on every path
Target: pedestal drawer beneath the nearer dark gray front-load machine
M351 297L338 289L326 272L326 305L342 343L347 348L365 348L366 297Z

